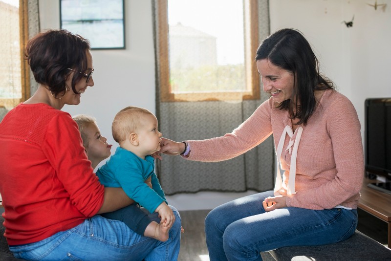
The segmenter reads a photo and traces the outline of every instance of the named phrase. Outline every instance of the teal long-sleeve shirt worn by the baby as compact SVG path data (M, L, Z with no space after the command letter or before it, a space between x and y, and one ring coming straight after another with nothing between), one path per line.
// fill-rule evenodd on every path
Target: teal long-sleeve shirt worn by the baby
M96 175L105 187L121 187L131 199L153 213L162 202L167 203L154 167L152 156L142 159L133 152L118 147ZM152 189L145 183L150 176Z

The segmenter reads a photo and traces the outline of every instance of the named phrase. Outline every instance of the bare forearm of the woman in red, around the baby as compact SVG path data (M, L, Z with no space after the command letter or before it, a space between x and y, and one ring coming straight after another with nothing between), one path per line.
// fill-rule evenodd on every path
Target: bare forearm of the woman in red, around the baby
M103 205L97 214L112 212L133 203L134 200L130 199L122 188L105 188Z

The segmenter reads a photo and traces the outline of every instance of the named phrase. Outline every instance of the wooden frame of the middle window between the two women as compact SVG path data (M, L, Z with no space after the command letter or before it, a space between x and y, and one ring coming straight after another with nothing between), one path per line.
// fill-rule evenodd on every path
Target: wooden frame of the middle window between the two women
M258 38L258 1L243 0L244 2L244 35L245 41L244 66L246 74L245 91L173 93L170 85L169 63L169 25L168 0L158 1L158 79L160 85L160 100L162 102L190 101L233 101L260 99L260 77L254 60L259 45ZM247 35L249 37L247 37ZM200 99L200 97L202 97Z

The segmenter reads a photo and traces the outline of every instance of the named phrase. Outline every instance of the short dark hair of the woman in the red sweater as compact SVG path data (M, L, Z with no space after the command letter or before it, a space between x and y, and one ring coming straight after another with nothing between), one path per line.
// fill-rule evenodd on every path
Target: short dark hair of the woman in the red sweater
M36 35L26 45L25 57L39 84L49 87L53 96L65 93L65 80L72 72L68 68L79 72L87 70L87 53L90 49L89 41L80 35L67 30L49 30ZM83 77L74 73L72 90Z

